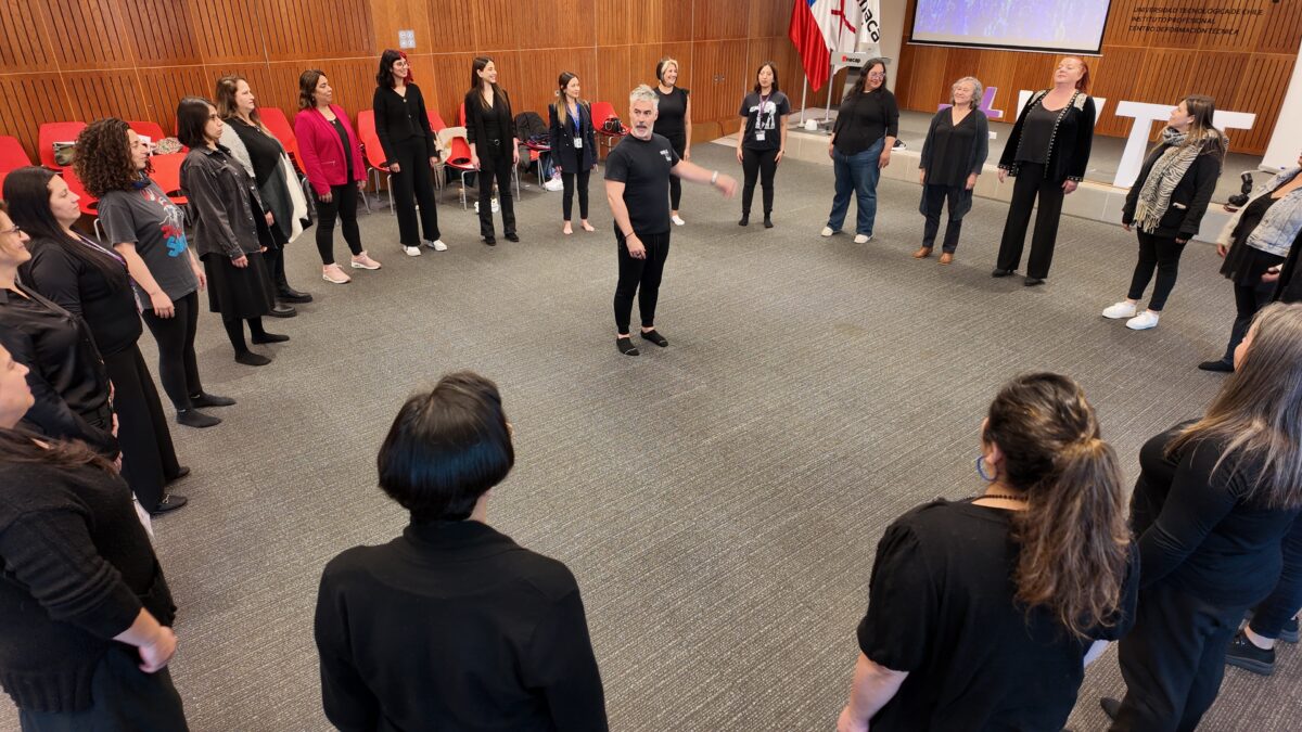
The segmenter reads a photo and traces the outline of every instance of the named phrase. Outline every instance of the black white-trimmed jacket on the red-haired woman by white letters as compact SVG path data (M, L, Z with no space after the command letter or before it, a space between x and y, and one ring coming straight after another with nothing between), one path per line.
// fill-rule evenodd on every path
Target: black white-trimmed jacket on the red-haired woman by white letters
M1023 163L1035 163L1043 159L1044 163L1038 164L1032 175L1059 185L1068 180L1081 182L1085 177L1085 168L1090 163L1090 148L1094 145L1094 120L1096 115L1094 99L1081 91L1073 94L1065 107L1051 112L1056 115L1056 121L1052 129L1047 130L1048 137L1044 138L1040 134L1046 132L1044 129L1027 133L1026 126L1029 119L1040 119L1039 113L1035 113L1034 117L1031 113L1035 109L1043 111L1044 96L1047 94L1048 91L1039 91L1032 94L1026 102L1022 115L1017 117L1017 122L1013 124L1013 132L1008 135L1008 143L1004 145L1004 154L1000 155L999 167L1008 171L1012 176L1021 176L1025 175L1022 172ZM1031 135L1031 139L1027 139L1027 134ZM1048 145L1047 154L1044 154L1044 150L1023 150L1023 147L1044 143Z

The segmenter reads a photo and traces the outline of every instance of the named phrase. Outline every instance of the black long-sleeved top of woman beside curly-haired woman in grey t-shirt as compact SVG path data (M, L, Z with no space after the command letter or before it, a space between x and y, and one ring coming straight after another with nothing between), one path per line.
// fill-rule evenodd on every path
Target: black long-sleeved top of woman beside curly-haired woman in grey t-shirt
M116 281L68 247L83 246L91 257L104 258L121 270ZM86 320L95 346L104 356L132 348L143 328L135 294L126 279L126 264L89 241L70 242L34 238L31 259L18 272L23 281L55 305Z

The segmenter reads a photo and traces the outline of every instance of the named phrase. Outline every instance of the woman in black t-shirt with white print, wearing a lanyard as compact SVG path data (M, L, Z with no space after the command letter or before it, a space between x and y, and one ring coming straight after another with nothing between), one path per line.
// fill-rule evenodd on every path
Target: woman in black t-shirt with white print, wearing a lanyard
M773 228L773 175L786 151L786 115L792 103L777 89L777 65L764 61L755 72L755 89L741 100L738 115L746 119L737 135L737 162L746 173L741 189L741 225L750 223L750 202L755 198L755 180L764 188L764 228ZM677 180L677 178L674 178Z

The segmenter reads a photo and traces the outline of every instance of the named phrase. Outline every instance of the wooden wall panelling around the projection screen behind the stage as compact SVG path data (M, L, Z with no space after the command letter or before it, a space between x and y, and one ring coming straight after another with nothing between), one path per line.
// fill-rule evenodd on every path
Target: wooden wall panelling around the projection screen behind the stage
M909 0L907 8L910 26L914 1ZM1302 3L1217 3L1217 9L1240 10L1240 14L1225 16L1215 23L1234 31L1230 34L1131 30L1130 20L1137 9L1150 5L1151 0L1113 0L1103 52L1087 59L1094 78L1091 91L1108 99L1095 132L1115 137L1130 133L1134 120L1113 113L1118 102L1174 104L1186 94L1207 94L1223 109L1258 116L1251 130L1233 132L1230 148L1236 152L1263 152L1279 119L1302 39ZM1176 5L1189 10L1213 7L1194 0ZM934 111L937 99L948 96L953 79L971 74L986 86L1000 89L995 107L1012 119L1017 113L1018 91L1048 86L1053 66L1061 57L1055 53L913 46L907 43L910 33L911 27L905 30L906 43L901 48L900 81L896 85L900 106L906 109Z

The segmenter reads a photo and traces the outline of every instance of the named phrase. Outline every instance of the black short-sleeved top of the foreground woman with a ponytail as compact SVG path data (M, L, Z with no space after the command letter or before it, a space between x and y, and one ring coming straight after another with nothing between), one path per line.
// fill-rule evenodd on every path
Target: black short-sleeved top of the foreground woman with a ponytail
M1014 602L1012 521L1010 511L937 500L887 529L859 649L909 677L872 718L874 732L1062 729L1091 642L1048 610ZM1120 616L1092 638L1130 629L1138 576L1131 551Z

